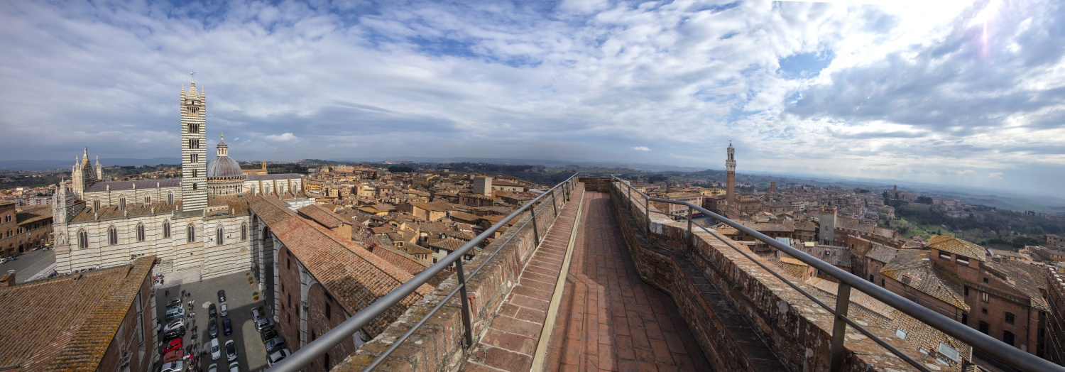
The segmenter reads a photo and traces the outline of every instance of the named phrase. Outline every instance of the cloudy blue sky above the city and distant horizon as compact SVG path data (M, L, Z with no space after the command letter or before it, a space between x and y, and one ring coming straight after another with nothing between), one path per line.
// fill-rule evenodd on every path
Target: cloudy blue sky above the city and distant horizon
M1060 1L0 2L0 159L492 157L1058 195ZM210 152L210 151L209 151Z

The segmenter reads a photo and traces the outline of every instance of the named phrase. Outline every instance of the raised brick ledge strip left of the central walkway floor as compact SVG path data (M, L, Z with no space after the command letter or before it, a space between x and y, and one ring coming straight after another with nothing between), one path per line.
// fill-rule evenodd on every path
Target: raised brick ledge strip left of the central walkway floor
M540 340L583 193L584 184L578 183L571 201L561 209L522 271L518 286L474 346L463 371L528 371L532 366L532 354ZM552 213L552 208L545 208L543 213Z

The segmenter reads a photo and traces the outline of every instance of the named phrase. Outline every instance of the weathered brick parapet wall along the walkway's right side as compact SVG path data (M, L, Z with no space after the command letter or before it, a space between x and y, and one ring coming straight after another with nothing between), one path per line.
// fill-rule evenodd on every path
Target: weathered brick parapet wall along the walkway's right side
M759 370L755 363L763 360L758 359L774 357L787 370L828 371L831 313L709 233L697 230L694 247L688 252L684 244L687 223L656 214L654 207L650 215L651 232L645 233L648 217L643 198L633 193L629 201L624 185L616 184L611 189L616 213L640 276L672 295L716 367ZM715 306L715 302L720 301L731 306ZM761 341L742 339L748 334L736 328L736 324L730 324L737 316L747 321ZM723 331L725 329L737 331ZM895 338L891 330L874 326L867 329L915 359L934 365L934 360ZM732 335L725 335L730 333ZM775 355L758 355L757 347L744 347L752 341L765 342ZM846 371L913 369L854 329L849 329L845 347ZM749 354L752 351L754 354Z

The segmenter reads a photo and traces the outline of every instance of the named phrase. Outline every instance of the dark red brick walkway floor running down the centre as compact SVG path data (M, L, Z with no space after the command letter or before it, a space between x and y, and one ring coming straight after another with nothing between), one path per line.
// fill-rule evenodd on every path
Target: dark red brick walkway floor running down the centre
M673 300L636 273L608 194L585 194L546 360L550 371L710 370Z

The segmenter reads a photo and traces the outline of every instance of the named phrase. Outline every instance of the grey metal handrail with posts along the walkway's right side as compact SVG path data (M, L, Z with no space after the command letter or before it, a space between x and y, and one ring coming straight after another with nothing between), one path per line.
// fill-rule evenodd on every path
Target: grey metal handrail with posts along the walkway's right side
M814 256L810 256L809 254L807 254L805 252L796 249L794 247L791 247L791 246L789 246L787 244L781 243L780 241L777 241L777 240L775 240L773 238L770 238L770 237L768 237L766 234L763 234L761 232L755 231L754 229L752 229L750 227L743 226L743 225L741 225L741 224L739 224L739 223L737 223L735 221L728 220L728 219L726 219L726 217L724 217L724 216L722 216L720 214L710 212L709 210L706 210L706 209L704 209L701 206L695 206L695 205L693 205L693 204L691 204L689 201L681 201L681 200L672 200L672 199L662 199L662 198L657 198L657 197L651 197L648 194L645 194L645 193L639 191L638 189L634 188L632 184L629 184L628 181L622 180L621 178L618 178L616 175L611 175L610 177L613 178L615 180L619 181L621 184L624 184L625 187L628 188L628 190L629 190L628 191L628 193L629 193L628 199L629 199L630 204L635 205L635 200L633 200L633 198L632 198L632 192L633 191L636 191L638 194L640 194L641 196L643 196L643 198L644 198L644 213L645 213L646 223L648 223L646 229L648 229L649 232L650 232L650 224L651 224L650 201L659 201L659 203L669 203L669 204L685 205L685 206L687 206L689 208L689 210L699 211L699 212L702 212L704 215L708 215L708 216L711 216L714 219L717 219L718 221L721 221L721 222L725 223L726 225L736 228L737 230L740 230L740 231L742 231L742 232L744 232L747 234L750 234L751 237L754 237L755 239L757 239L757 240L759 240L759 241L761 241L764 243L767 243L770 246L772 246L772 247L774 247L774 248L776 248L779 250L782 250L785 254L787 254L787 255L789 255L789 256L791 256L791 257L793 257L793 258L796 258L796 259L798 259L798 260L800 260L800 261L802 261L802 262L804 262L804 263L806 263L806 264L808 264L808 265L810 265L810 266L813 266L813 268L815 268L817 270L820 270L822 273L825 273L826 275L830 275L830 276L838 279L839 280L839 287L838 287L838 292L836 294L836 305L837 305L837 308L839 308L840 311L837 311L836 308L830 308L823 302L819 301L818 298L814 297L808 292L802 290L797 285L792 284L791 280L788 280L788 279L784 278L783 276L781 276L780 274L777 274L775 271L773 271L773 270L769 269L768 266L766 266L765 264L763 264L759 260L754 259L753 257L751 257L750 255L748 255L747 253L744 253L742 249L739 249L735 245L728 243L726 240L724 240L718 233L716 233L716 232L707 229L704 226L701 226L701 225L697 224L697 226L699 226L700 228L702 228L704 231L709 232L711 236L714 236L718 240L724 242L726 245L728 245L730 247L732 247L736 252L739 252L740 254L742 254L748 259L751 259L753 262L757 263L759 266L761 266L763 269L765 269L766 271L768 271L773 276L775 276L779 279L783 280L785 284L787 284L791 288L798 290L800 293L802 293L806 297L808 297L812 301L814 301L814 303L816 303L817 305L821 306L825 310L828 310L828 311L832 312L834 316L836 316L836 322L835 322L835 325L833 327L833 340L832 340L832 344L831 344L831 347L832 347L832 366L830 367L830 370L832 370L832 371L838 371L841 368L841 362L842 362L842 357L843 357L842 341L843 341L843 336L846 335L846 326L847 325L850 325L850 326L856 328L858 331L861 331L865 336L869 337L870 339L872 339L873 341L875 341L881 346L884 346L885 349L887 349L888 351L890 351L892 354L896 354L897 356L901 357L903 360L905 360L910 365L914 366L915 368L917 368L919 370L922 370L922 371L928 371L928 369L924 368L924 366L920 365L920 362L914 360L908 355L905 355L904 353L900 352L899 350L892 347L891 345L889 345L884 340L882 340L879 337L874 336L872 333L870 333L867 329L861 327L858 324L856 324L855 322L853 322L850 318L847 318L847 306L850 303L850 289L851 289L851 287L853 287L853 288L855 288L855 289L857 289L857 290L859 290L859 291L868 294L869 296L871 296L873 298L876 298L876 300L879 300L879 301L881 301L881 302L883 302L883 303L885 303L885 304L887 304L887 305L889 305L889 306L898 309L899 311L902 311L903 313L905 313L905 314L907 314L910 317L913 317L914 319L917 319L918 321L923 322L924 324L928 324L929 326L932 326L933 328L939 329L943 333L945 333L945 334L947 334L947 335L949 335L951 337L954 337L954 338L961 340L962 342L968 343L973 349L977 349L977 350L979 350L979 351L981 351L981 352L983 352L983 353L985 353L987 355L990 355L992 357L994 357L994 358L996 358L996 359L998 359L1000 361L1004 361L1004 362L1009 363L1010 366L1012 366L1014 368L1019 368L1019 369L1023 369L1026 371L1033 371L1033 372L1036 372L1036 371L1065 371L1065 367L1058 366L1058 365L1051 362L1050 360L1043 359L1043 358L1037 357L1037 356L1035 356L1033 354L1029 354L1027 352L1020 351L1020 350L1018 350L1018 349L1016 349L1016 347L1014 347L1012 345L1009 345L1009 344L1006 344L1006 343L1004 343L1002 341L999 341L999 340L997 340L997 339L995 339L995 338L993 338L993 337L990 337L988 335L985 335L985 334L980 333L980 331L978 331L976 329L972 329L972 328L970 328L967 325L958 323L958 322L954 321L953 319L947 318L947 317L945 317L945 316L943 316L943 314L940 314L938 312L935 312L932 309L929 309L929 308L925 308L923 306L917 305L917 304L915 304L915 303L913 303L913 302L911 302L911 301L908 301L908 300L906 300L906 298L904 298L904 297L902 297L902 296L900 296L898 294L892 293L891 291L883 289L883 288L881 288L881 287L879 287L879 286L876 286L876 285L874 285L872 282L866 281L865 279L862 279L862 278L855 276L854 274L848 273L848 272L843 271L842 269L836 268L835 265L833 265L831 263L828 263L825 261L822 261L822 260L820 260L820 259L818 259L818 258L816 258ZM661 212L659 212L659 213L661 213ZM662 213L662 214L672 215L672 214L668 214L668 213ZM688 231L687 231L688 232L688 237L689 237L689 239L688 239L688 244L689 244L688 248L691 249L692 248L691 239L690 239L690 237L692 236L691 224L690 224L691 213L688 214L687 219L689 221ZM981 347L981 346L978 346L978 345L984 345L984 346Z

